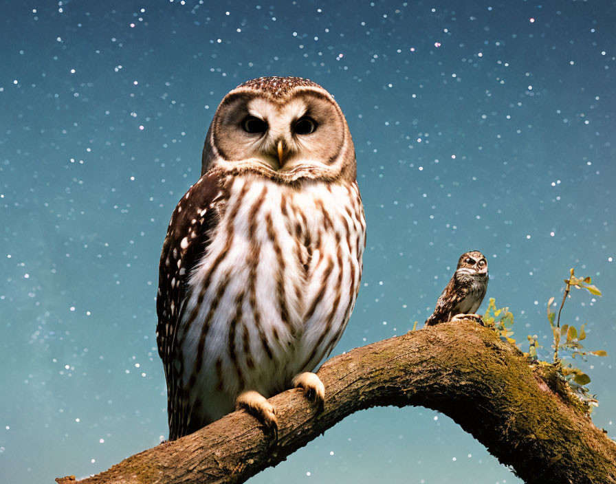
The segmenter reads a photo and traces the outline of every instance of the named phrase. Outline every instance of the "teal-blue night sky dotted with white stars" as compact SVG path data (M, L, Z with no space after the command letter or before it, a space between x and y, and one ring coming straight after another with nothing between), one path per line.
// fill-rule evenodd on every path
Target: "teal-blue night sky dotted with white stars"
M1 1L0 481L85 476L166 437L157 264L224 94L320 83L347 115L368 221L334 353L420 325L488 259L514 338L574 292L597 426L616 437L611 1ZM480 311L487 307L485 299ZM544 357L548 352L544 350ZM520 483L426 408L374 408L252 483Z

